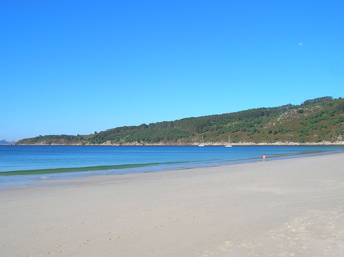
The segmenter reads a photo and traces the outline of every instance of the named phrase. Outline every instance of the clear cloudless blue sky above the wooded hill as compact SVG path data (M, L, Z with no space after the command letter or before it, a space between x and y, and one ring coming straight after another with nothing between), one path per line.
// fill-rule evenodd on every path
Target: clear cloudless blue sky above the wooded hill
M344 97L344 1L0 1L0 139Z

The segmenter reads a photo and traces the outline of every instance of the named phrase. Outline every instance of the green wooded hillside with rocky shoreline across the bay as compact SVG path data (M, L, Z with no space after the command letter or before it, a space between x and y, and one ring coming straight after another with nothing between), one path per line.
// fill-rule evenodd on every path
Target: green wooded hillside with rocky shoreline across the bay
M40 135L17 144L206 145L344 144L344 99L330 96L300 105L249 109L171 122L122 126L92 135Z

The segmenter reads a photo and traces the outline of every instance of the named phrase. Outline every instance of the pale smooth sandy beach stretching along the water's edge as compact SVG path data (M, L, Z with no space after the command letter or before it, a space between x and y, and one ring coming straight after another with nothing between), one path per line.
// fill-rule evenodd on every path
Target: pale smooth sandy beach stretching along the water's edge
M344 153L0 196L0 256L344 256Z

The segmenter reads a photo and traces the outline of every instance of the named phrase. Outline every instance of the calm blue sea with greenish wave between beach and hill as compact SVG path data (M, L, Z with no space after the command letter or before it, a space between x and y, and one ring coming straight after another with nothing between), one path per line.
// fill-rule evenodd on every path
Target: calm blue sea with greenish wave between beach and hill
M344 146L0 146L0 186L344 151ZM186 170L187 172L187 170Z

